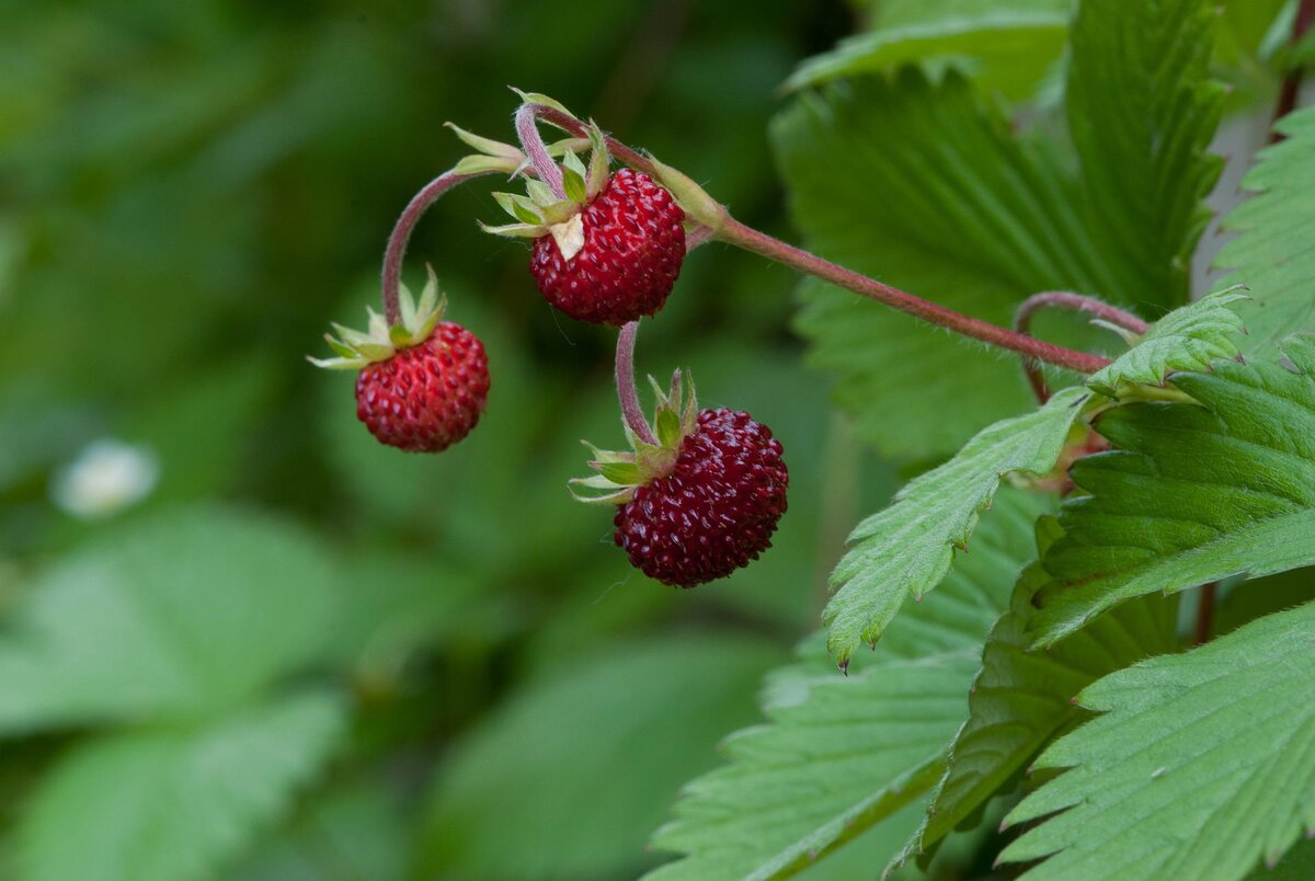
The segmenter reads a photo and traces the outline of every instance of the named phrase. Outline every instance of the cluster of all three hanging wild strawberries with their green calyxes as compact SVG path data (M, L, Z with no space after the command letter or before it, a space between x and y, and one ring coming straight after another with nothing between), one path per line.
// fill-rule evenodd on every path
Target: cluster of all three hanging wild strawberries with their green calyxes
M467 158L455 172L505 171L508 163L522 168L515 147L456 131L484 155ZM518 222L484 229L534 239L530 272L543 297L567 316L630 325L667 302L685 258L686 217L648 175L631 168L613 174L602 131L590 125L588 134L588 167L569 147L558 150L562 164L540 164L527 195L494 193ZM663 167L655 167L660 174ZM544 183L550 176L560 176L555 188ZM396 287L393 322L371 312L367 333L335 325L338 337L327 341L338 358L312 360L360 371L356 416L381 443L438 452L479 422L488 360L479 338L442 321L444 302L433 271L418 304L405 285ZM387 288L385 274L385 300ZM631 325L631 343L633 331ZM625 351L618 358L623 401L627 391L635 397ZM658 397L652 425L626 412L631 451L594 450L590 465L598 473L572 485L602 490L576 493L581 501L617 505L614 538L633 565L664 584L690 588L732 573L771 547L789 473L769 429L747 413L698 410L693 388L684 394L679 371L671 392Z

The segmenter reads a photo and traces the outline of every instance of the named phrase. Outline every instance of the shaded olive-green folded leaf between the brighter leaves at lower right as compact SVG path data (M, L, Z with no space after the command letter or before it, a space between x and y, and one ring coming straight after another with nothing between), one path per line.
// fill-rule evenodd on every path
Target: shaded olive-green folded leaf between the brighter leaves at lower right
M899 861L922 855L973 815L1060 731L1078 718L1085 686L1149 655L1177 648L1177 602L1144 597L1102 615L1044 652L1028 652L1036 568L1014 590L1011 609L992 629L968 697L968 722L949 750L949 767L922 827Z

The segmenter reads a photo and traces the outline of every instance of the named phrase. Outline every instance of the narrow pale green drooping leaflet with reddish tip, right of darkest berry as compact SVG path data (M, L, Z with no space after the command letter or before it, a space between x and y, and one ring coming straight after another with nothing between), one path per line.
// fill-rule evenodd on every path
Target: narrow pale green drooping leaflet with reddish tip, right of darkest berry
M881 638L906 598L920 600L945 577L953 548L968 547L1001 477L1053 467L1086 397L1082 389L1064 389L1039 410L985 429L855 527L849 552L831 573L835 596L822 613L827 648L842 667L860 642Z

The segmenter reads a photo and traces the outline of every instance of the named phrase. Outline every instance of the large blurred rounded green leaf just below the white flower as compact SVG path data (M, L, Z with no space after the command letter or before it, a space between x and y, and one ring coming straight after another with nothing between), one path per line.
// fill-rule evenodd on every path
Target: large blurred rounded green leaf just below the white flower
M0 638L0 730L187 717L317 656L327 547L271 517L183 509L108 533L39 577Z

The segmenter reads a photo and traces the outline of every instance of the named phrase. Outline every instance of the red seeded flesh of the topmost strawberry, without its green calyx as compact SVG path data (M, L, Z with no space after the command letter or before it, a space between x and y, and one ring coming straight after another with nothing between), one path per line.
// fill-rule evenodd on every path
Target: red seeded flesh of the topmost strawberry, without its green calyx
M565 259L554 235L534 242L530 272L554 306L580 321L652 316L685 259L685 213L648 175L622 168L580 213L584 247Z

